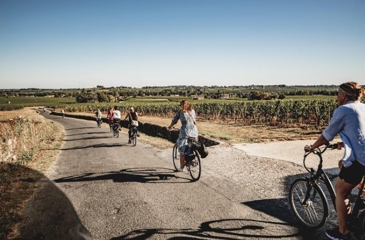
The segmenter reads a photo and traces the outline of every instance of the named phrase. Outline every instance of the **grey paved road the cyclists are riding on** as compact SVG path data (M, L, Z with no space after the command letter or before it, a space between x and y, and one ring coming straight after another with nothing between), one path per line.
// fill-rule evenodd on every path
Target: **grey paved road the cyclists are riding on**
M324 229L301 229L290 210L298 164L216 146L192 182L173 171L170 150L132 147L95 122L44 116L66 129L48 178L93 239L326 239Z

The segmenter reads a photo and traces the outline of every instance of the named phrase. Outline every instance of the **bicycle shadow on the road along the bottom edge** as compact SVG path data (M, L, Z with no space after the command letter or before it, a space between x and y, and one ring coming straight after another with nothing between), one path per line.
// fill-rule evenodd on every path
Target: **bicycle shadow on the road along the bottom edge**
M203 222L197 228L173 229L152 228L138 229L110 240L149 239L163 236L164 239L247 239L247 238L293 238L300 236L295 229L289 233L270 234L271 229L291 228L281 222L260 221L252 219L222 219Z

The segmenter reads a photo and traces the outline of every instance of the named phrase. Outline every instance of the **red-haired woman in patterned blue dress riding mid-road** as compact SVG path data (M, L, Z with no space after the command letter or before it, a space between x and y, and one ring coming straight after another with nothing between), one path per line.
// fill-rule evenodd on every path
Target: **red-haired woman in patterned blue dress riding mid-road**
M177 171L184 172L185 147L188 145L188 139L198 139L198 129L195 125L195 111L192 105L185 99L180 101L180 110L177 111L168 128L171 129L179 119L181 121L181 128L176 145L180 153L180 168Z

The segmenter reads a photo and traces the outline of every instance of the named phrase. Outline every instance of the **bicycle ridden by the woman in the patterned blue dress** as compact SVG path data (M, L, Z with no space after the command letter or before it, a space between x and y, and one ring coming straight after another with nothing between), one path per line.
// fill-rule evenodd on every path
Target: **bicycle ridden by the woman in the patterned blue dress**
M188 143L195 143L195 139L189 139ZM194 152L194 159L191 161L184 162L184 166L186 166L188 172L190 173L190 176L193 178L194 181L199 180L200 174L201 174L201 161L200 161L200 155L197 150L193 149ZM180 168L180 153L178 152L177 145L175 144L172 148L172 162L174 164L175 170L177 171L177 168Z

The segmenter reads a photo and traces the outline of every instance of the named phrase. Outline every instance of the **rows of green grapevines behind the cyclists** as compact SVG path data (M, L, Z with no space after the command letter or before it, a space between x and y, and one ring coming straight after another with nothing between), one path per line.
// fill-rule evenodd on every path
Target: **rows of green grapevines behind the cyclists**
M116 103L122 115L133 106L141 115L173 117L179 109L178 102L134 101ZM110 103L84 103L62 106L66 112L107 112ZM234 121L239 124L265 124L269 126L327 125L337 108L334 99L322 100L271 100L271 101L211 101L193 102L198 120ZM60 108L60 106L54 106Z

